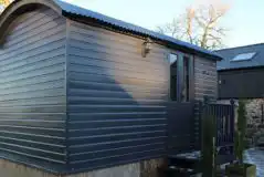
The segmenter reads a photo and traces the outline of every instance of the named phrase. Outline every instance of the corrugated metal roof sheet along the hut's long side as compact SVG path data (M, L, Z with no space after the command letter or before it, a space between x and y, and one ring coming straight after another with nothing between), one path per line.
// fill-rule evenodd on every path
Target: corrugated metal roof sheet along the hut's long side
M98 20L98 21L104 22L109 25L115 25L115 27L122 28L124 30L135 32L135 33L140 33L142 35L148 35L148 37L161 40L161 41L167 41L167 42L173 43L176 45L180 45L180 46L191 49L193 51L197 51L197 52L200 52L203 54L211 55L211 56L215 58L215 60L221 60L221 56L219 54L217 54L215 52L202 49L200 46L190 44L188 42L183 42L183 41L177 40L175 38L171 38L171 37L165 35L165 34L160 34L158 32L154 32L151 30L147 30L141 27L124 22L122 20L117 20L117 19L110 18L110 17L107 17L102 13L87 10L87 9L74 6L72 3L68 3L68 2L64 2L62 0L54 0L54 2L57 6L60 6L64 12L72 13L75 15L81 15L81 17L93 18L95 20Z

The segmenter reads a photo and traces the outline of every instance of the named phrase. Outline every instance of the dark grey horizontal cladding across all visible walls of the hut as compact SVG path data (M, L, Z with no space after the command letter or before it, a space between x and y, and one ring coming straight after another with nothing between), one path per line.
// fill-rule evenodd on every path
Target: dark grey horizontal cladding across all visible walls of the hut
M152 44L141 58L142 40L68 24L39 9L10 25L0 49L0 157L65 173L166 155L170 50ZM192 97L215 95L214 63L194 58ZM181 106L191 122L192 103Z

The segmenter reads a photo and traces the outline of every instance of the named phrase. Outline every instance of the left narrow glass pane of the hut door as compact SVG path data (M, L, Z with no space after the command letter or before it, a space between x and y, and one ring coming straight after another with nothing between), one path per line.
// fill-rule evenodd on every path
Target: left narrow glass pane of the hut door
M178 55L170 54L170 98L177 101L178 98Z

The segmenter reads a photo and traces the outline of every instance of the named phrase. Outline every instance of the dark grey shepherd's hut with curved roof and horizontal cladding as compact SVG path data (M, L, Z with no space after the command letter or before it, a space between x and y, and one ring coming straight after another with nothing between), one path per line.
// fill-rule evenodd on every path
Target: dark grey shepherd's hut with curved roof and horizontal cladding
M194 102L217 100L219 55L60 0L12 2L0 41L0 157L27 166L81 173L187 150Z

